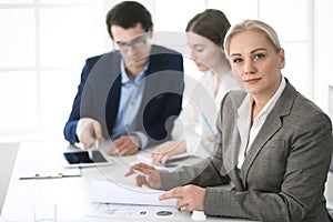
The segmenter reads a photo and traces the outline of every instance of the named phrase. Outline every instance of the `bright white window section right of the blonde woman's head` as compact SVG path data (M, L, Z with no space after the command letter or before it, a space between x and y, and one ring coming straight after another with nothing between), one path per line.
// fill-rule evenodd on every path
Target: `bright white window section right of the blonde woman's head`
M260 19L276 30L285 48L282 73L309 99L313 99L312 10L312 0L260 1Z

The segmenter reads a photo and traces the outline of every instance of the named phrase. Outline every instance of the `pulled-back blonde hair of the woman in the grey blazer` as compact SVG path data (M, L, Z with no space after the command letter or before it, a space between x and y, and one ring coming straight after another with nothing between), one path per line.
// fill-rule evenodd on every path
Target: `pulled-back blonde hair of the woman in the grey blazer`
M266 36L266 38L272 42L273 47L275 48L276 52L279 52L281 50L281 44L280 44L280 40L279 37L275 32L275 30L259 20L251 20L251 19L246 19L240 23L236 23L234 26L232 26L224 39L224 50L225 50L225 54L229 58L230 56L230 41L231 39L236 36L238 33L244 32L244 31L259 31L262 32L263 34Z

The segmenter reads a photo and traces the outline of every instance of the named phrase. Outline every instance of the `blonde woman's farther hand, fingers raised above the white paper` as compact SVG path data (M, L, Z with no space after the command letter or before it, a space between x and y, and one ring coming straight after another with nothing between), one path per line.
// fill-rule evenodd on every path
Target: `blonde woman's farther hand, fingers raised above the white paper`
M130 170L124 174L124 176L132 175L137 173L135 171L140 171L141 173L143 173L143 175L139 174L135 176L135 185L145 185L151 189L161 189L161 174L155 168L145 163L135 163L134 165L131 165Z

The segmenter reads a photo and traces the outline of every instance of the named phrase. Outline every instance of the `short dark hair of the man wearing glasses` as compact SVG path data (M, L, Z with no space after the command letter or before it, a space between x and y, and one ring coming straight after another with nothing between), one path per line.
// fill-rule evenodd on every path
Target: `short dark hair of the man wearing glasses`
M107 14L107 27L111 39L113 39L111 26L115 24L129 29L138 23L141 23L145 31L152 27L150 12L137 1L123 1L115 4Z

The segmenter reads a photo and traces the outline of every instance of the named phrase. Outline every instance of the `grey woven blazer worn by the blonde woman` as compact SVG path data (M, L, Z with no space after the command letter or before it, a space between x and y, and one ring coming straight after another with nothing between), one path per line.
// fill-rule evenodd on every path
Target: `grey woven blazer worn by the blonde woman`
M206 188L208 215L329 222L323 192L333 150L330 118L286 80L238 170L241 139L236 121L244 97L243 91L232 91L222 101L211 159L175 172L161 172L162 189L180 184ZM232 190L216 186L230 181Z

